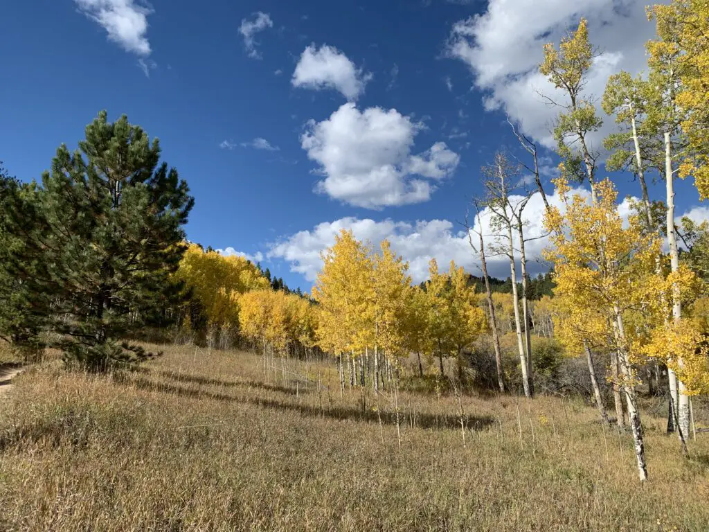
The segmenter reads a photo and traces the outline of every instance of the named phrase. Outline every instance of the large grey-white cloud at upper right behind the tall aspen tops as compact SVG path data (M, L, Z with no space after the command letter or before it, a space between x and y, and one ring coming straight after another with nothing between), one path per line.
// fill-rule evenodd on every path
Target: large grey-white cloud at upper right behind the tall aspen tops
M646 67L644 44L654 35L642 0L490 0L484 13L454 24L447 51L462 60L484 93L488 110L501 109L520 123L523 131L548 148L554 146L550 124L559 109L540 96L564 101L537 70L542 46L558 43L581 15L588 18L593 43L603 45L589 74L585 92L600 98L610 74L627 70L637 74ZM600 110L599 112L603 113ZM603 115L602 115L603 116ZM606 119L603 131L594 135L596 148L613 128Z

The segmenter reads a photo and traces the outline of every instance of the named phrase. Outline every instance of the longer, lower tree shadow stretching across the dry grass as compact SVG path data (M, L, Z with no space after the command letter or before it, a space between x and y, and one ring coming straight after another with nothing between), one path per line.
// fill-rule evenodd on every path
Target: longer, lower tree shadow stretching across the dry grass
M280 401L277 399L264 399L260 397L234 397L232 395L206 392L194 390L180 386L179 384L170 384L166 382L154 382L140 375L129 376L124 373L118 373L115 377L115 382L133 386L138 389L143 389L148 392L162 392L166 394L174 394L178 397L186 397L189 399L210 399L213 401L227 401L240 404L251 404L262 408L279 409L286 411L295 411L301 416L308 417L323 417L335 419L337 421L359 421L363 423L381 423L386 425L396 425L396 412L391 410L384 411L379 408L372 408L372 404L368 408L352 408L349 406L333 405L323 392L322 406L313 406L309 404L293 403L289 401ZM259 383L262 384L262 383ZM264 385L266 386L266 385ZM267 388L269 389L269 388ZM294 390L291 390L295 394ZM330 403L328 405L328 403ZM488 428L495 421L492 416L465 416L464 426L471 431L481 431ZM418 428L433 429L433 430L460 430L460 417L457 415L435 415L423 412L409 413L402 410L399 412L399 424L411 425Z

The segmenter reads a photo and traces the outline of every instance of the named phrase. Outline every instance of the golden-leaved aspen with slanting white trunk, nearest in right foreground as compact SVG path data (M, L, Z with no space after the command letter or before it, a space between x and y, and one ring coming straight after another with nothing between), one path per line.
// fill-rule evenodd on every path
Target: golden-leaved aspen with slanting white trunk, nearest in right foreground
M610 323L608 336L618 355L638 475L644 481L647 465L635 392L635 365L643 357L631 340L626 321L633 312L656 307L660 299L664 279L654 270L660 240L642 230L637 216L623 226L615 204L618 194L608 179L596 183L596 200L590 205L579 194L569 197L563 176L556 184L566 211L562 214L552 207L547 216L545 223L554 235L545 257L554 263L557 293L569 306L596 309L601 314L594 320L597 326L603 318Z

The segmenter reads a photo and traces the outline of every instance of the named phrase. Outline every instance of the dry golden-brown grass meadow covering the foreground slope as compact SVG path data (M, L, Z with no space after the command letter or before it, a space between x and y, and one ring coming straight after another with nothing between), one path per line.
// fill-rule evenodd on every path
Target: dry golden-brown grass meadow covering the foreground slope
M709 530L709 435L685 459L646 413L641 486L630 435L581 402L401 392L399 448L390 394L284 370L194 347L138 372L29 367L0 399L0 528Z

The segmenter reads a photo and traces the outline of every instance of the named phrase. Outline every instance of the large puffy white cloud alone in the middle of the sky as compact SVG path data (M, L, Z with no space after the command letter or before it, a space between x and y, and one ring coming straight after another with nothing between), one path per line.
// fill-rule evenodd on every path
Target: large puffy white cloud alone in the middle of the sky
M367 209L427 201L436 187L421 177L447 177L459 156L445 143L411 155L422 128L396 109L359 111L352 103L322 122L309 121L301 146L325 175L316 190Z

